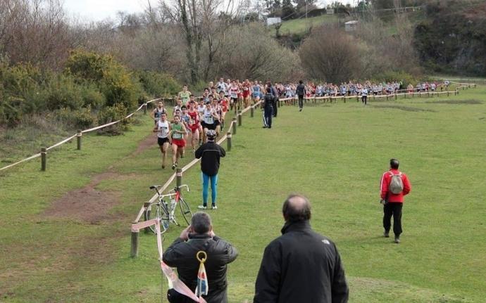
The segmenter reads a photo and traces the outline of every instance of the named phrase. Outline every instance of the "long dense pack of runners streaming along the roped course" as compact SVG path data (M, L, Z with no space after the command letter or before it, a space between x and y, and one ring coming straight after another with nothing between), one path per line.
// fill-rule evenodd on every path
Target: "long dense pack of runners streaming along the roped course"
M416 86L409 84L406 90L435 91L442 84L437 82L423 82ZM444 83L447 87L447 83ZM176 105L169 112L162 101L158 101L157 107L152 112L154 118L154 132L158 136L158 145L163 155L162 168L166 167L166 155L172 145L172 169L177 167L181 157L185 155L187 142L192 150L206 141L206 133L209 129L216 131L219 136L225 123L225 115L228 110L240 110L249 105L263 100L267 89L271 88L274 98L297 98L299 108L302 110L301 99L323 96L361 96L361 101L366 105L368 94L385 95L396 94L403 89L402 82L347 82L340 85L332 83L316 84L314 82L275 83L249 81L240 82L238 79L220 78L216 84L209 82L201 96L196 98L189 91L187 85L177 94ZM304 89L303 89L304 88ZM276 107L273 112L276 116Z

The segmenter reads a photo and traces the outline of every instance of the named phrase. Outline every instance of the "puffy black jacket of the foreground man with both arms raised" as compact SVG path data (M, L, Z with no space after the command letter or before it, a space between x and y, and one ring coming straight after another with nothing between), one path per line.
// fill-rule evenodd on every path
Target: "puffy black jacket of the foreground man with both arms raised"
M196 254L203 250L208 255L206 273L208 275L208 295L204 299L208 303L228 302L226 289L226 264L235 261L238 252L235 247L225 240L208 235L189 235L189 240L181 238L168 247L163 254L163 262L168 266L177 267L180 281L184 282L193 292L197 286L197 271L199 271L199 261ZM187 302L192 299L187 298Z

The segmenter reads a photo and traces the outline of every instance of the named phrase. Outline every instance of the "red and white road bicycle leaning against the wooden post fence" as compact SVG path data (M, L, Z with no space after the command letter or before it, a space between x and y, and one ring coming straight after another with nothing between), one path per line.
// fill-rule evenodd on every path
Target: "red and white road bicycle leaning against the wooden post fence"
M189 204L187 204L187 202L184 200L184 198L182 198L182 195L180 194L181 188L185 187L187 188L187 191L189 191L189 186L187 186L186 184L179 187L175 186L175 188L173 188L173 190L166 195L162 195L158 191L158 188L160 187L160 185L150 186L150 189L154 189L157 192L158 198L155 202L151 202L147 209L145 209L145 221L149 221L151 219L151 217L153 216L152 207L155 207L155 216L153 218L159 219L161 227L163 228L163 231L161 231L162 233L167 231L170 222L173 222L173 224L180 226L179 222L177 222L177 220L175 219L174 214L175 207L177 207L178 204L182 217L184 218L184 221L186 221L187 226L189 226L192 218L192 211L189 207ZM170 197L170 202L166 201L166 198L168 197ZM154 225L149 226L149 228L153 233L156 233Z

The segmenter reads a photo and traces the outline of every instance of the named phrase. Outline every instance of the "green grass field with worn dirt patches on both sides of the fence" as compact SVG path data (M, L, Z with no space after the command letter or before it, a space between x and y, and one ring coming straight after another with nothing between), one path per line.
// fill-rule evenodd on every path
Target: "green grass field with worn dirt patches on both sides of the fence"
M208 211L216 233L239 250L229 266L230 302L251 299L263 249L279 236L281 205L294 191L313 202L313 228L337 243L350 302L484 302L485 94L479 86L367 108L284 107L273 129L261 129L259 112L245 115L222 161L220 209ZM151 123L147 117L125 136L87 136L83 150L49 155L45 173L35 161L0 174L0 302L157 302L154 236L142 233L139 258L129 257L130 222L151 197L148 186L172 173L159 168L155 144L135 152ZM378 183L390 157L412 183L399 245L381 237ZM69 209L59 201L89 183L106 197L94 205L98 216L53 209ZM184 183L195 209L197 167ZM181 229L170 226L165 247Z

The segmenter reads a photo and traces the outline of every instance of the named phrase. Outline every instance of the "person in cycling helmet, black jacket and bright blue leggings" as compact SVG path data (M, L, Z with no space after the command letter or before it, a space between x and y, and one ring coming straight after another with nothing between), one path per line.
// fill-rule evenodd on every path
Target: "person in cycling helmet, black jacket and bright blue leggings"
M218 209L216 206L216 195L218 193L218 170L220 157L226 155L225 149L216 144L216 131L208 129L206 136L208 141L199 146L194 154L197 159L201 159L201 174L203 179L203 205L199 209L208 208L208 187L211 183L211 209Z

